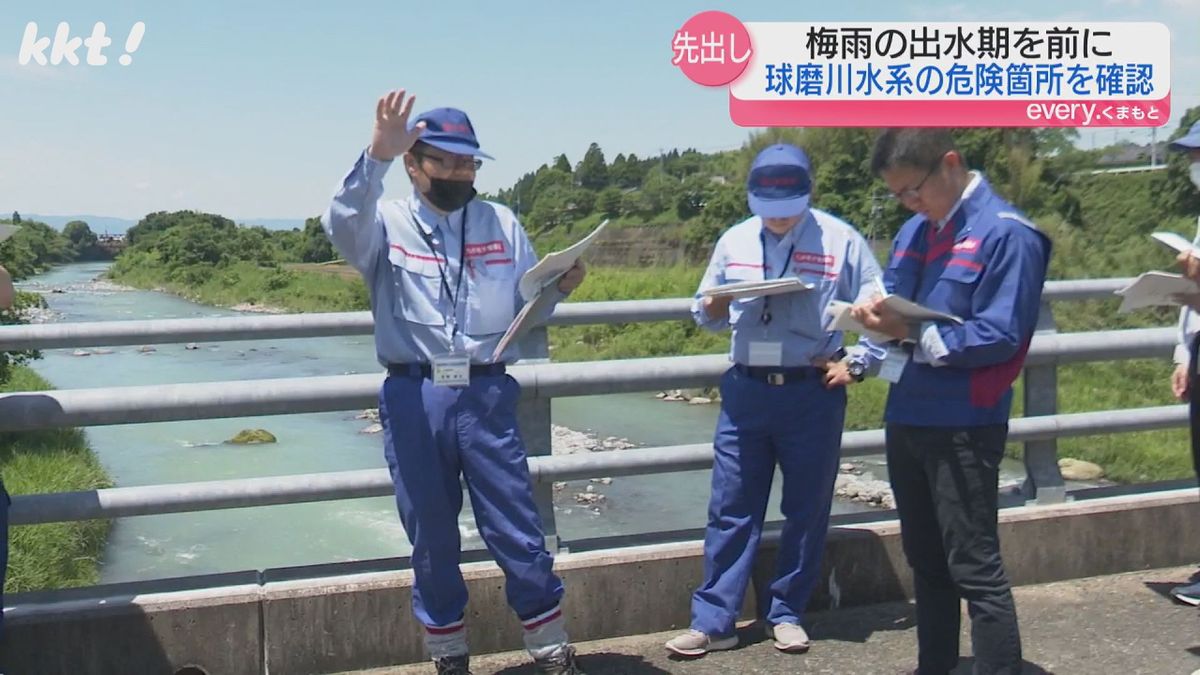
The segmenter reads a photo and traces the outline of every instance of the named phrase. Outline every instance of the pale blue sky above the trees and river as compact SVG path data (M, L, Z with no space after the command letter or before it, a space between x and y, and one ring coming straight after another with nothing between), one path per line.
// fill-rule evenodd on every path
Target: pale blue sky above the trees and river
M725 91L670 64L673 31L704 10L745 22L1158 20L1172 32L1172 110L1200 104L1200 0L8 1L0 210L318 215L370 141L376 98L398 86L419 108L468 112L497 159L479 174L488 191L560 153L576 162L592 142L610 161L736 148L750 130L730 121ZM31 20L40 35L68 22L84 37L104 22L108 65L18 65ZM138 20L145 37L120 66ZM1104 131L1097 143L1114 138L1147 142L1150 131ZM386 187L408 191L400 172Z

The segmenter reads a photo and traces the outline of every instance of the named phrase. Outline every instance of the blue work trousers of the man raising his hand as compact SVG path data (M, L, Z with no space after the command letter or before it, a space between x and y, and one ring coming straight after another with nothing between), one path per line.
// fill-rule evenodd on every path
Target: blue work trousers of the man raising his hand
M384 455L413 545L413 611L425 626L461 621L467 608L458 569L460 476L517 616L538 616L563 596L517 430L520 392L508 375L473 376L464 388L438 387L419 376L389 376L383 383Z

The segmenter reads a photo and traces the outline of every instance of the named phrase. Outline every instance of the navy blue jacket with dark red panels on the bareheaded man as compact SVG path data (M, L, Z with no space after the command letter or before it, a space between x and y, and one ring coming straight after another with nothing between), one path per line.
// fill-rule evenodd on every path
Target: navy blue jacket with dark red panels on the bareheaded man
M883 273L890 293L955 315L923 327L888 393L884 420L922 426L1008 422L1013 381L1037 325L1050 239L977 177L938 232L910 219Z

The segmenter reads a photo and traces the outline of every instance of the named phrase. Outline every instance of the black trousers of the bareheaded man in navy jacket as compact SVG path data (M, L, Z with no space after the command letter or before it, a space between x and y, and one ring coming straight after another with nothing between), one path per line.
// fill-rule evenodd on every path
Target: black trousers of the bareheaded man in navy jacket
M974 673L1021 671L1016 608L1000 557L997 480L1008 425L887 425L888 473L917 596L918 673L959 662L961 601Z

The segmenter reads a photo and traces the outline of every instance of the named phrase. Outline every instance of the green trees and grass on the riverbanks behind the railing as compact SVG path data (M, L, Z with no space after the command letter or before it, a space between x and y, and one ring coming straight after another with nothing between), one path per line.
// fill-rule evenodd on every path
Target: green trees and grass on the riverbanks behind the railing
M1198 118L1200 108L1189 110L1181 129ZM814 203L858 226L880 259L886 259L890 237L906 213L887 198L883 184L866 171L872 136L870 130L772 130L751 136L733 151L672 151L649 159L618 155L612 162L593 144L575 166L565 156L556 157L512 187L485 197L518 210L540 253L577 240L605 217L612 220L606 240L624 234L635 243L617 249L600 241L594 255L589 253L599 262L593 262L572 301L690 297L713 243L724 228L746 216L743 184L750 159L763 145L778 141L796 142L810 151L815 163ZM1146 269L1171 269L1170 255L1147 234L1170 229L1190 237L1195 228L1200 197L1188 183L1187 166L1180 157L1171 157L1165 171L1092 175L1086 169L1094 166L1099 151L1075 149L1068 132L1061 130L965 130L959 138L968 163L982 168L1001 193L1025 209L1054 239L1051 279L1132 276ZM79 234L80 228L74 229ZM31 274L38 265L74 259L71 239L55 239L41 229L31 234L37 234L37 241L25 241L19 250L8 243L0 245L0 261ZM361 280L335 259L317 217L308 219L302 228L268 231L241 227L215 214L155 213L131 228L127 240L128 247L118 256L109 276L128 286L222 306L298 312L367 309ZM77 250L78 245L78 256ZM1116 301L1111 300L1064 303L1054 309L1062 331L1168 325L1175 318L1168 309L1117 315ZM727 334L702 331L686 321L556 327L550 336L554 359L564 362L720 353L728 347ZM1084 412L1168 405L1174 402L1170 371L1165 359L1063 366L1058 408ZM32 384L13 377L6 386L25 389ZM1016 387L1014 416L1020 416L1020 381ZM847 428L877 428L884 395L886 386L878 381L851 387ZM76 453L79 466L88 461L94 465L82 436L77 438L83 448ZM58 441L62 446L72 442ZM1066 438L1060 441L1060 454L1099 464L1112 480L1146 482L1190 476L1186 444L1186 430L1166 430ZM1016 444L1009 452L1020 456ZM0 446L0 466L5 458L17 454L38 452L22 450L19 441L7 438ZM86 489L107 480L96 467L96 473L80 474L71 485L48 485L41 479L36 484L16 483L24 470L6 468L14 492ZM95 542L102 540L103 533L103 526L98 527L61 537L82 542L79 550L84 554L79 557L94 560L98 551ZM23 530L36 528L16 532ZM88 574L61 574L59 579L32 583L83 583L89 580ZM19 587L10 581L10 590Z

